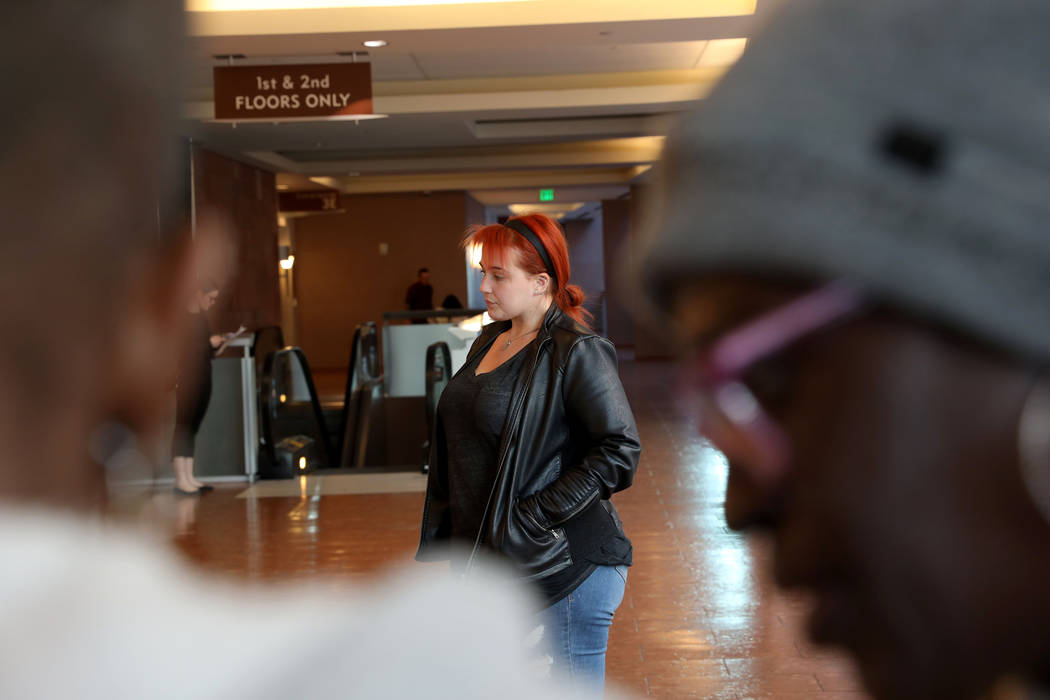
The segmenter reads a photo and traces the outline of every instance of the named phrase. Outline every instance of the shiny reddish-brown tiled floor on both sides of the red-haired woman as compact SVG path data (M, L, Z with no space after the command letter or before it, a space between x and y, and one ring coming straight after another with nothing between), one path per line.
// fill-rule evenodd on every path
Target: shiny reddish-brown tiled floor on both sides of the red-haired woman
M671 365L625 362L622 374L644 453L634 486L614 499L634 567L611 633L610 681L663 698L866 698L847 663L806 643L804 601L772 587L765 544L727 530L724 464L670 398ZM243 485L219 488L180 504L176 542L205 568L251 578L361 578L407 563L422 493L332 484L243 499Z

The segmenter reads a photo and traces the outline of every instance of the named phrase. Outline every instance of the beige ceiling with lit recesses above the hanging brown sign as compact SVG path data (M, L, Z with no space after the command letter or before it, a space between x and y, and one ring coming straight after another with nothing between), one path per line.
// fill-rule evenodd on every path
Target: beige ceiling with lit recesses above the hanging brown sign
M541 187L571 203L626 191L774 0L197 12L240 1L187 2L194 63L184 113L194 139L278 172L282 189L466 189L503 205L534 201ZM264 1L295 4L254 5ZM365 49L368 39L388 45ZM214 58L228 55L245 58ZM371 62L385 119L211 121L214 65L353 60Z

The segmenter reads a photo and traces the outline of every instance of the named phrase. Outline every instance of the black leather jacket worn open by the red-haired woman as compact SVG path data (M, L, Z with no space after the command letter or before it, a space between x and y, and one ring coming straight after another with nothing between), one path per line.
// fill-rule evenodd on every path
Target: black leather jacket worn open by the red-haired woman
M470 346L484 353L509 321L489 323ZM481 548L506 555L526 579L572 564L562 525L610 517L609 496L631 485L642 445L620 382L616 351L551 304L529 345L503 425L496 483L467 563ZM440 423L416 558L448 558L448 472ZM622 530L621 530L622 532Z

